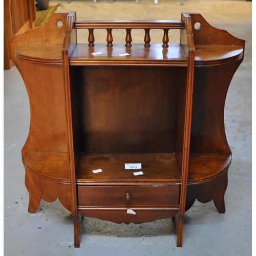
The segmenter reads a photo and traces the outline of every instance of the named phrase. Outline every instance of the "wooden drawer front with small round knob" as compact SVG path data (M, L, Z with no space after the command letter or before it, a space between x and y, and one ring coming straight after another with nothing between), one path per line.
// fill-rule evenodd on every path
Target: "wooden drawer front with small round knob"
M180 186L78 186L79 206L178 205Z

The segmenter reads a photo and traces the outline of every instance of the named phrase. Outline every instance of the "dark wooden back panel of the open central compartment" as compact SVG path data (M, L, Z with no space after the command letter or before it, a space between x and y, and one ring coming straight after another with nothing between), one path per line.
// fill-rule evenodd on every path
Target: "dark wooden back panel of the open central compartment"
M178 73L178 68L80 67L82 151L175 152Z

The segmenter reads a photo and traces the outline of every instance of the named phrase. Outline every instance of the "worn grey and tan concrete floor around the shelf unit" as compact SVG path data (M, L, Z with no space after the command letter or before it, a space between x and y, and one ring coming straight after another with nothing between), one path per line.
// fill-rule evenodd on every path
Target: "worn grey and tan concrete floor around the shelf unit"
M172 220L142 225L114 224L86 218L81 247L73 245L73 220L59 201L41 201L27 212L20 150L29 129L29 102L15 67L4 70L4 254L14 255L251 255L251 2L225 0L67 0L50 1L78 19L180 19L180 12L200 12L213 26L246 40L245 58L234 75L225 106L226 135L232 150L226 213L213 202L196 202L186 212L183 246L176 247ZM81 36L81 39L82 36Z

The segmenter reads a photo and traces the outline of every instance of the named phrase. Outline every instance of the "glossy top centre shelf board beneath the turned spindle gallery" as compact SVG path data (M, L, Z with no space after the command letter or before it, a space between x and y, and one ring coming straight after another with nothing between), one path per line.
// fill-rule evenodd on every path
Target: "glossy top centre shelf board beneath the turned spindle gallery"
M70 65L186 67L188 64L180 45L162 47L161 44L151 44L151 47L144 47L144 44L133 44L125 47L124 44L114 44L113 47L106 47L106 44L95 44L89 47L88 44L77 44L70 57Z

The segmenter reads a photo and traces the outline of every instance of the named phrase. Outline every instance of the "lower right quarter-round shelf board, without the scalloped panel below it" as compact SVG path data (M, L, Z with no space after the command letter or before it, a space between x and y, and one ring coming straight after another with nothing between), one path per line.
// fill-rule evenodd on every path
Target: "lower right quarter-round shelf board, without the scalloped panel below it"
M231 154L190 154L189 185L214 180L225 173L231 163Z

